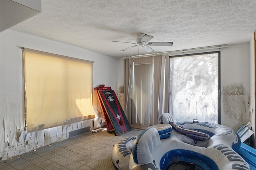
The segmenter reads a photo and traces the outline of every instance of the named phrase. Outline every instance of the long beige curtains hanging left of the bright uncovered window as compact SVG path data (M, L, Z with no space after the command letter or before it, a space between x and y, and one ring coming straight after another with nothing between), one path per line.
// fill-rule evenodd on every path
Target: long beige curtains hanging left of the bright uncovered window
M164 61L162 55L125 59L126 116L132 127L146 128L158 123Z

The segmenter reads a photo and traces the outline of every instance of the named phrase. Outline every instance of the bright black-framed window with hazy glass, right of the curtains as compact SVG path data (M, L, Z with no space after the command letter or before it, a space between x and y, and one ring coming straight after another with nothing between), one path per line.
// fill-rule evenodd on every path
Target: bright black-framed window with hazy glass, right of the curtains
M169 113L175 122L220 123L220 52L172 56Z

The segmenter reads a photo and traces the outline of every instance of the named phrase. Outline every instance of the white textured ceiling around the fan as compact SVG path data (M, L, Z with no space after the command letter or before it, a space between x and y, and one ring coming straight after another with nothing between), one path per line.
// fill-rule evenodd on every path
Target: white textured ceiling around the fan
M145 54L132 46L139 33L157 52L250 42L256 0L42 0L42 13L12 30L113 57Z

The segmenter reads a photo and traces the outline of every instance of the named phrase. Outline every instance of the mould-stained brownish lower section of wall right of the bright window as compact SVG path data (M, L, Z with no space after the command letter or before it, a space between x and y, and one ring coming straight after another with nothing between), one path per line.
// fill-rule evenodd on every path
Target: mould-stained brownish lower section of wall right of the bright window
M250 106L250 95L244 84L226 85L222 89L222 117L229 120L229 127L237 129L242 124L247 124Z

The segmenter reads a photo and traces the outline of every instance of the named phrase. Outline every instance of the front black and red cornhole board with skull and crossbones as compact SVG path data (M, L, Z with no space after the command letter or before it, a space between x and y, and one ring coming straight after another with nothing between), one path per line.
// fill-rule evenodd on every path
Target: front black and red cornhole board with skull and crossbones
M98 95L100 96L108 118L114 127L115 134L117 135L131 130L132 128L130 127L114 90L98 90Z

